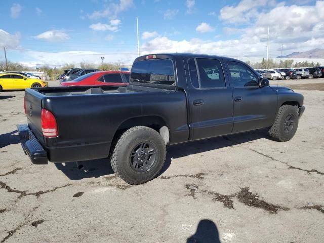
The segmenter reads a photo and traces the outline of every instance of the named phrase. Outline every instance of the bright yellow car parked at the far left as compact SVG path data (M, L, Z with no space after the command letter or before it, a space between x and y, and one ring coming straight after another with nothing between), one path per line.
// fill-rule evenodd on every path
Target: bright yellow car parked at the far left
M26 88L46 87L47 82L42 79L28 78L19 73L0 73L0 92L2 90L20 90Z

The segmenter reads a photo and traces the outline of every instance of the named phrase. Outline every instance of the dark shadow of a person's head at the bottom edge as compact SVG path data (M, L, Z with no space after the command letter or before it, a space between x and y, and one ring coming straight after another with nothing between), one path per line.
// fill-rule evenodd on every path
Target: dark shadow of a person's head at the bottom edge
M200 220L196 232L187 239L187 243L220 243L216 224L209 220Z

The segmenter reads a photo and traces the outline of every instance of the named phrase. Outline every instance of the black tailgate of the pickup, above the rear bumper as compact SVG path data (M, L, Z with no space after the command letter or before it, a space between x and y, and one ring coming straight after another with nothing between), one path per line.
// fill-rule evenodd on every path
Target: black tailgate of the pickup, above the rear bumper
M25 106L27 123L30 130L41 144L44 145L44 137L42 134L41 111L42 103L45 95L33 89L25 90Z

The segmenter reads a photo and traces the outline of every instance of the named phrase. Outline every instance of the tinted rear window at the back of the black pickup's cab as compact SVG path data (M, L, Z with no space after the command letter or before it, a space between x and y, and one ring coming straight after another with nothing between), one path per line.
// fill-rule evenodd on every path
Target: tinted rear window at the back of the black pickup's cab
M173 62L170 59L150 59L133 64L131 83L175 85Z

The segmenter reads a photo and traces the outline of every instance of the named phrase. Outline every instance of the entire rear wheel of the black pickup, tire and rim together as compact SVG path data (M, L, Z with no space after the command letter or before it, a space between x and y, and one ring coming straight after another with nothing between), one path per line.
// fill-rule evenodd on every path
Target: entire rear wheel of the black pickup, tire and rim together
M155 178L166 160L166 144L155 130L138 126L118 139L111 167L128 184L138 185Z

